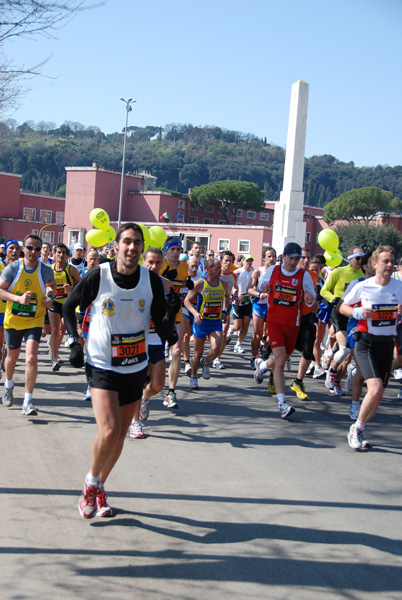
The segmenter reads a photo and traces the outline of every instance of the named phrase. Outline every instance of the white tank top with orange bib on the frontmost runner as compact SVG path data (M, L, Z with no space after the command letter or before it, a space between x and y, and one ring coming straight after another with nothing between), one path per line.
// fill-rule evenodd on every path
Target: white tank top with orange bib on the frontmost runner
M91 304L87 361L116 373L137 373L148 365L152 288L148 269L140 269L135 288L113 281L109 263L100 266L99 291Z

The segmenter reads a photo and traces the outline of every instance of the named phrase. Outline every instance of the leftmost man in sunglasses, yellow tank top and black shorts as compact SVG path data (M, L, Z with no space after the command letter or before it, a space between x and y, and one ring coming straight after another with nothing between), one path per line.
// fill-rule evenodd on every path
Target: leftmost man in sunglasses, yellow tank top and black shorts
M4 332L7 345L3 404L14 403L14 371L25 340L25 395L21 413L37 415L32 394L38 373L38 348L46 308L52 304L56 282L52 269L39 261L42 241L35 234L24 238L24 258L10 263L0 278L0 299L7 300Z

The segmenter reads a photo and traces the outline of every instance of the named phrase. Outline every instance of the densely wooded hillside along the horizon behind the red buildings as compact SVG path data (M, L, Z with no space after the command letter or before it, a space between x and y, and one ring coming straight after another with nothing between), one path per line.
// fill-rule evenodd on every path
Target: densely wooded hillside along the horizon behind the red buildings
M99 127L65 121L0 122L0 170L22 175L22 188L63 196L66 166L121 170L123 132L103 133ZM250 133L216 126L169 124L128 127L126 172L148 171L157 188L180 194L217 181L248 181L267 200L279 200L285 150ZM402 198L402 166L356 167L331 155L305 161L305 203L324 207L341 194L375 186Z

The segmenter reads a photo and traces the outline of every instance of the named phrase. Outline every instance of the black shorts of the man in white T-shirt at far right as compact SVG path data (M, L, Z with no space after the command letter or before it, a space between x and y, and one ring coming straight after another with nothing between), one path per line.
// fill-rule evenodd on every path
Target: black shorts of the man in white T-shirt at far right
M360 333L355 345L355 358L364 380L378 378L386 387L394 353L394 338Z

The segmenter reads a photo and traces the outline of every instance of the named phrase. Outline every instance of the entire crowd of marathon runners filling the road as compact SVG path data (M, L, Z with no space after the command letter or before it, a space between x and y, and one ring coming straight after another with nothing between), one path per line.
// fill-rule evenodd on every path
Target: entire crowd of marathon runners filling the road
M178 410L180 374L198 390L199 374L209 379L212 369L225 369L231 351L250 352L254 382L261 385L267 376L283 420L295 412L290 394L309 400L306 378L322 379L323 391L337 396L346 387L352 393L348 443L354 450L369 447L366 424L392 372L399 376L402 368L402 265L395 266L390 246L368 253L353 246L346 266L330 269L324 256L293 242L280 256L265 248L255 261L229 250L203 254L198 242L187 254L178 237L168 237L163 250L144 251L143 241L141 227L127 223L112 245L86 255L79 243L70 252L35 234L0 248L4 406L14 404L23 340L25 417L38 411L32 396L41 338L47 338L52 371L61 368L66 332L71 364L85 366L84 400L92 401L98 432L78 505L83 517L112 514L104 485L127 431L130 438L144 437L150 398L166 386L163 405ZM295 350L297 375L287 389Z

